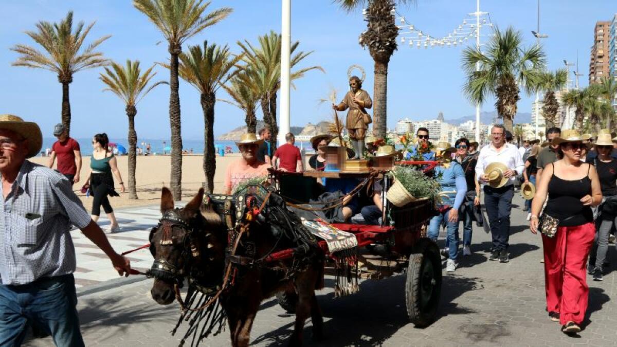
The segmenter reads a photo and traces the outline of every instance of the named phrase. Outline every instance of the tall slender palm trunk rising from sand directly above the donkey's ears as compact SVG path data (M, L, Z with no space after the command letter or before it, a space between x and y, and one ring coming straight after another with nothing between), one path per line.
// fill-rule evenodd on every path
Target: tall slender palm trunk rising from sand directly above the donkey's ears
M172 129L172 171L170 175L170 188L173 199L182 199L182 137L180 135L180 94L178 93L178 54L180 46L169 47L172 55L170 60L170 94L169 94L169 123Z

